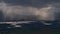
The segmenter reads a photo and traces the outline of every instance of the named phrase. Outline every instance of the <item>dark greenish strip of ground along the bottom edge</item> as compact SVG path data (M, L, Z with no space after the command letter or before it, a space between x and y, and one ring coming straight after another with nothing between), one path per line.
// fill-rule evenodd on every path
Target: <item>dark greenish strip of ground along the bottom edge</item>
M60 34L60 31L46 28L41 30L14 28L8 31L0 31L0 34Z

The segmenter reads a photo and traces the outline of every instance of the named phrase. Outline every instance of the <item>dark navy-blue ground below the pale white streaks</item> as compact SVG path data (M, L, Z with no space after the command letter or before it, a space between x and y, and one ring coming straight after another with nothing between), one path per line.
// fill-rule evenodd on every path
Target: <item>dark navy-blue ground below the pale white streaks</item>
M60 34L60 24L44 25L40 22L21 24L22 27L14 27L9 24L0 24L0 34ZM7 28L12 27L12 28Z

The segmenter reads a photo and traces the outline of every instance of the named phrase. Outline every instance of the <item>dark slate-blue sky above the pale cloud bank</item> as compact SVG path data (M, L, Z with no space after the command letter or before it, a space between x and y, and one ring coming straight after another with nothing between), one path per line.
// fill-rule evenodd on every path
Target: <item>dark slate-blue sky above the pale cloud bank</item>
M6 3L12 5L32 6L32 7L44 7L46 4L52 2L59 2L60 0L4 0Z

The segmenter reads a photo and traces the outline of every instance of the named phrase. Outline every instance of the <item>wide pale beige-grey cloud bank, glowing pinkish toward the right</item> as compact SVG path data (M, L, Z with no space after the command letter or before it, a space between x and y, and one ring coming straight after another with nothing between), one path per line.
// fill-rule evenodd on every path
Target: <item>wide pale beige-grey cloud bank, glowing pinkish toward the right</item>
M25 19L27 18L26 15L28 15L28 17L30 18L31 17L33 18L34 16L36 17L38 16L37 18L40 20L54 20L54 11L56 9L54 8L56 7L55 3L52 4L48 3L42 7L12 5L4 2L3 4L0 5L2 5L2 8L0 9L3 11L5 17L11 20L14 18L16 20L19 20L19 18Z

